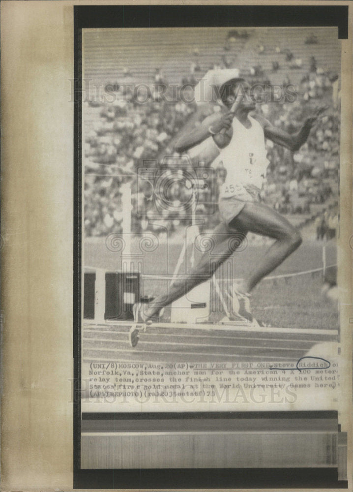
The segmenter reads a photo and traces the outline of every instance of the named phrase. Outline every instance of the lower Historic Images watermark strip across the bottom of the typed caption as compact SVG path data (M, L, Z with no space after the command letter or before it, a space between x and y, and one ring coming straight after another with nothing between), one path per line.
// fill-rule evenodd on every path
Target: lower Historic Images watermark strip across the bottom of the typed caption
M109 404L236 404L236 403L295 403L297 390L303 383L295 383L289 376L283 376L281 382L270 382L278 379L278 376L263 378L263 382L254 383L254 378L244 375L232 376L232 382L220 383L208 382L208 378L184 377L182 382L169 381L167 383L145 382L106 382L102 378L83 379L79 389L74 380L71 380L72 398L82 397L83 403L109 403ZM143 381L146 378L141 377ZM163 379L163 378L161 378ZM177 379L177 378L175 378ZM187 382L195 379L195 381ZM228 381L230 378L226 378ZM266 379L266 382L265 382ZM244 382L245 381L245 382ZM305 385L306 386L306 385Z

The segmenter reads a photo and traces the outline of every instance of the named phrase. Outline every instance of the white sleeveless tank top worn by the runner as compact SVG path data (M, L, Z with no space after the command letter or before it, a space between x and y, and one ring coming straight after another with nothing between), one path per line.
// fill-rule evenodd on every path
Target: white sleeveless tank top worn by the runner
M234 118L233 137L217 158L223 162L227 176L220 190L221 197L234 196L239 186L251 184L261 188L269 160L266 157L265 135L261 124L249 116L250 128Z

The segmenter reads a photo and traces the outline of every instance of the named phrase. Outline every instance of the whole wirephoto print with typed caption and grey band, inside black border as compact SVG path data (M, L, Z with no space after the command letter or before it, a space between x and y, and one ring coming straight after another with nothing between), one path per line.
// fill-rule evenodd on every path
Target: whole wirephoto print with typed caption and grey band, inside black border
M346 480L338 29L83 29L82 77L81 467Z

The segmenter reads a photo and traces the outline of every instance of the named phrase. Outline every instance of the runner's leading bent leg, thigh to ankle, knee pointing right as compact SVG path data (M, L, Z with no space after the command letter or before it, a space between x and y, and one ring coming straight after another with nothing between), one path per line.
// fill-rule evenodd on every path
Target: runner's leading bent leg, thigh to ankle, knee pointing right
M251 292L262 278L278 267L302 242L300 233L287 219L262 203L246 203L231 225L238 230L276 240L244 278L240 288L243 293Z

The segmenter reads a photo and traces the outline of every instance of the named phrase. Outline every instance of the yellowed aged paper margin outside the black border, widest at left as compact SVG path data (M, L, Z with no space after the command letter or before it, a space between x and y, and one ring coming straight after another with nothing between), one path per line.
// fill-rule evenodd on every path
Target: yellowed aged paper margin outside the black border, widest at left
M150 4L148 1L104 4ZM206 1L154 1L206 4ZM230 5L233 1L213 1ZM303 5L287 1L286 4ZM1 2L2 490L72 490L73 10L80 1ZM86 5L99 4L85 1ZM278 1L238 1L278 5ZM283 2L282 2L283 4ZM326 5L310 1L307 5ZM339 263L351 265L352 2L342 41ZM9 238L9 239L7 239ZM340 422L351 428L352 271L340 268ZM352 432L348 450L352 450ZM350 455L350 452L349 452ZM352 476L352 461L348 476ZM352 486L352 482L350 484ZM189 489L191 490L191 489ZM284 490L284 489L282 489ZM293 490L293 489L292 489ZM314 489L310 489L314 491Z

